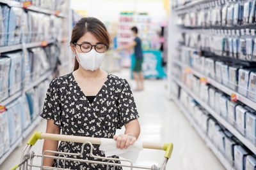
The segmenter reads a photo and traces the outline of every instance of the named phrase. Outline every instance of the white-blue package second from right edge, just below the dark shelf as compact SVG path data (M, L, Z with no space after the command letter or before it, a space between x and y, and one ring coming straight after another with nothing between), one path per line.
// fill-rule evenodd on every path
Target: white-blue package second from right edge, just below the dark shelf
M239 69L238 78L238 92L247 96L248 84L249 84L250 71L246 69Z

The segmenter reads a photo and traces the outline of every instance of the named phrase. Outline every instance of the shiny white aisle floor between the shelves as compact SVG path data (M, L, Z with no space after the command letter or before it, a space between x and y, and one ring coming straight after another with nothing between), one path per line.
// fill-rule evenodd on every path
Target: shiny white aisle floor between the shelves
M127 78L134 88L134 81L129 78L129 70L122 70L117 74ZM182 115L179 108L166 97L165 80L146 80L143 92L134 92L134 98L140 113L141 134L139 140L156 143L170 143L174 145L172 158L166 169L175 170L216 170L225 169L214 156L204 141L196 134L186 117ZM46 121L42 120L35 130L45 132ZM120 134L124 129L116 132ZM8 159L0 166L0 169L10 169L19 163L22 148L18 147ZM35 152L42 150L42 141L35 145ZM140 152L136 164L150 166L159 164L164 157L163 151L143 150ZM40 162L40 160L35 160ZM125 170L128 168L124 168Z

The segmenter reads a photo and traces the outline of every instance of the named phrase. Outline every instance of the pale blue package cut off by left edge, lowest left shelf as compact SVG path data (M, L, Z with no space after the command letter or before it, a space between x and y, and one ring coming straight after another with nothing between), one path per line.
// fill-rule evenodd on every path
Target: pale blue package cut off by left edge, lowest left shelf
M10 148L10 139L8 132L8 115L7 111L0 113L0 158Z

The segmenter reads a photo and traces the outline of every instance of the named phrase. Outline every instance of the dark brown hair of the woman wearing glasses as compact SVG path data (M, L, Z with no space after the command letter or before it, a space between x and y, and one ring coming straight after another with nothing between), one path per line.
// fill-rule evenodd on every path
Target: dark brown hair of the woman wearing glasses
M109 34L105 25L94 17L84 17L77 22L72 31L70 43L77 43L78 39L86 32L91 32L97 39L99 39L100 43L104 43L109 46ZM79 63L75 58L74 71L76 71L78 67Z

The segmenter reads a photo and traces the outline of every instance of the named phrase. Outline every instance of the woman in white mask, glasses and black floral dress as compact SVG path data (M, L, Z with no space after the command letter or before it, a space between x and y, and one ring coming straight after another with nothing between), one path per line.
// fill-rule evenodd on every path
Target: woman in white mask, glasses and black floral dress
M76 55L74 71L49 85L41 115L47 119L46 132L60 134L61 129L67 135L113 138L116 148L127 148L140 135L139 116L127 81L99 68L109 46L105 25L97 18L82 18L72 31L70 46ZM116 136L116 129L123 125L125 133ZM99 145L93 146L93 153L104 157ZM77 153L81 152L81 144L61 141L58 148L58 141L45 140L44 150ZM72 158L95 160L89 151L87 146L83 158ZM60 161L59 167L63 163ZM56 160L44 159L44 166L57 165ZM106 166L66 161L65 168L106 169Z

